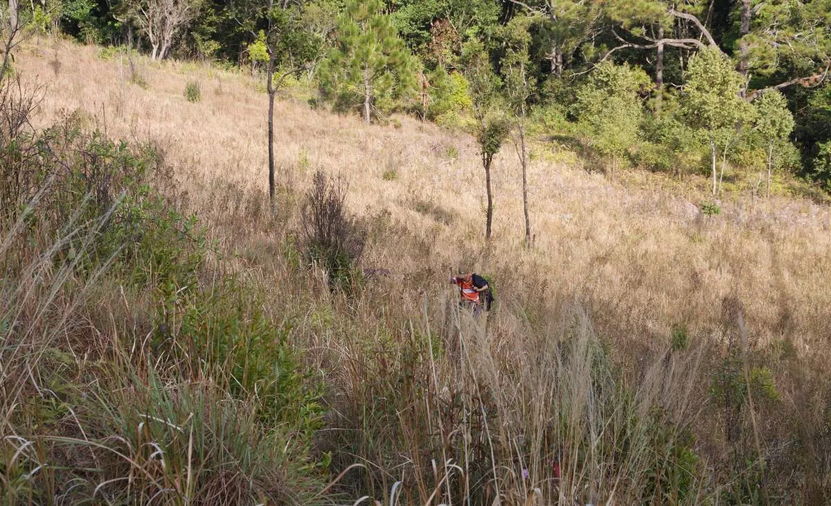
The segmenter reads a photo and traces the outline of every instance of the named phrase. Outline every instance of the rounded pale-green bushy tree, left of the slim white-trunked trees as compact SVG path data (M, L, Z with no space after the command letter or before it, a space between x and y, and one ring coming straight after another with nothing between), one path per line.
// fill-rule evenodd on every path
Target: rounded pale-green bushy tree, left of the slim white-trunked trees
M639 136L643 107L640 93L649 84L646 73L602 62L578 90L575 115L589 144L616 162Z

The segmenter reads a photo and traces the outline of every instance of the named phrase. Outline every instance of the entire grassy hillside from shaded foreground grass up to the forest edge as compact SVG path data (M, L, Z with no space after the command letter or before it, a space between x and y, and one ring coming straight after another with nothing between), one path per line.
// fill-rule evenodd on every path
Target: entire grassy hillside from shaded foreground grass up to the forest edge
M25 87L43 86L33 128L86 132L49 151L55 171L96 166L59 162L101 152L96 129L147 158L141 176L101 180L99 204L125 191L123 216L57 191L32 205L37 223L2 222L7 502L831 500L827 206L735 191L706 216L706 179L590 173L540 138L534 245L504 149L488 250L469 136L286 99L272 213L259 83L130 67L62 42L17 55ZM348 181L361 267L388 275L329 290L308 265L300 207L318 170ZM132 197L139 180L158 201ZM107 235L134 214L156 218ZM126 246L98 251L101 237ZM494 280L486 318L455 307L460 264Z

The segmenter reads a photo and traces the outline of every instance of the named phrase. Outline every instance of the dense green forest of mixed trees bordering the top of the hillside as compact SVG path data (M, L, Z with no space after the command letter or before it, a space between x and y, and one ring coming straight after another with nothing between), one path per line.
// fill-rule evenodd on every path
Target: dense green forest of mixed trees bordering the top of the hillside
M831 184L831 0L12 3L82 42L263 72L272 97L304 77L312 105L465 127L483 152L536 127L607 170L706 171L714 194L743 169Z

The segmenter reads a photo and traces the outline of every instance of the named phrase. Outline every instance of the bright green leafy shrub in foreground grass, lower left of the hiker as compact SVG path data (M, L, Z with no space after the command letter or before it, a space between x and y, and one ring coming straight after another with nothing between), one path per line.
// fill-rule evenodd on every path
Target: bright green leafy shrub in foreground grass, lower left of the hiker
M160 306L155 334L158 349L189 343L200 362L229 375L231 393L255 399L257 418L266 426L300 430L311 444L322 426L321 391L300 372L289 340L290 324L275 326L263 313L265 300L242 280L229 277L209 290L189 292L175 305ZM178 328L177 328L178 325ZM164 330L161 330L164 329Z

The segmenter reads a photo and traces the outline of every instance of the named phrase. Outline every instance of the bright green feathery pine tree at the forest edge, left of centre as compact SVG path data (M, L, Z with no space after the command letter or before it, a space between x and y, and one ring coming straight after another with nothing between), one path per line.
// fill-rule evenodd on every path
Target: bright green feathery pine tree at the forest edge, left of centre
M416 61L380 0L347 2L337 42L318 68L323 97L337 110L361 110L366 122L391 112L416 85Z

